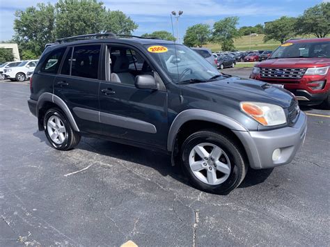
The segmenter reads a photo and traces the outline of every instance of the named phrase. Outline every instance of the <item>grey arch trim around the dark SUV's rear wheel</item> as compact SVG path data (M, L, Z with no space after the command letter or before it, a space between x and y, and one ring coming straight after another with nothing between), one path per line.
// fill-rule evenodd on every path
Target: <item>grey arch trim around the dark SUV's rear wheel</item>
M45 113L47 112L48 109L51 108L58 108L65 113L65 116L68 118L70 124L72 125L72 128L76 131L79 132L79 127L77 126L76 121L74 120L74 117L68 108L67 104L63 102L63 99L60 97L52 94L52 93L42 93L40 95L38 102L37 102L37 111L36 115L38 118L38 127L39 130L44 130L44 125L43 125L43 120L45 117Z

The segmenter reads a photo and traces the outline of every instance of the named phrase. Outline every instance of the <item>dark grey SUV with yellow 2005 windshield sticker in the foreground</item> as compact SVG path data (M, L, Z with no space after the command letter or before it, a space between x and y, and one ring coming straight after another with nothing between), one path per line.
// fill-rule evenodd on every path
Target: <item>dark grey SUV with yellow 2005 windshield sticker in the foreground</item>
M221 74L170 41L96 37L47 47L30 80L29 109L56 150L82 135L158 150L196 188L229 193L248 168L290 163L303 142L306 115L288 91Z

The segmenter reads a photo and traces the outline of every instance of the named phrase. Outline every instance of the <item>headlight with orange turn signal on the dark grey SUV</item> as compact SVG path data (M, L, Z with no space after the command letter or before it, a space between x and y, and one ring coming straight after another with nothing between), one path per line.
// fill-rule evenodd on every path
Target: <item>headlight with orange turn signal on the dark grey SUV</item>
M265 126L283 125L285 113L281 106L260 102L241 102L241 109L251 118Z

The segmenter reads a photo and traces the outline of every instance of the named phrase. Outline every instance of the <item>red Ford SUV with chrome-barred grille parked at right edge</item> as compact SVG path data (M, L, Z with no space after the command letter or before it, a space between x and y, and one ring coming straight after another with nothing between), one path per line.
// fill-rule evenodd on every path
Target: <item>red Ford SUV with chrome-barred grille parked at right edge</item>
M276 84L296 95L299 103L330 109L330 38L288 40L250 78Z

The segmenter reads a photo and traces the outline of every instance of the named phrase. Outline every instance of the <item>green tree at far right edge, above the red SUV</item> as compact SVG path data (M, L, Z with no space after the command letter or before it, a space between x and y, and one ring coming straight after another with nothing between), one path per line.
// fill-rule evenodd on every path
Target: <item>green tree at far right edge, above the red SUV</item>
M330 33L330 3L320 3L304 11L297 18L298 34L313 33L317 38L324 38Z

